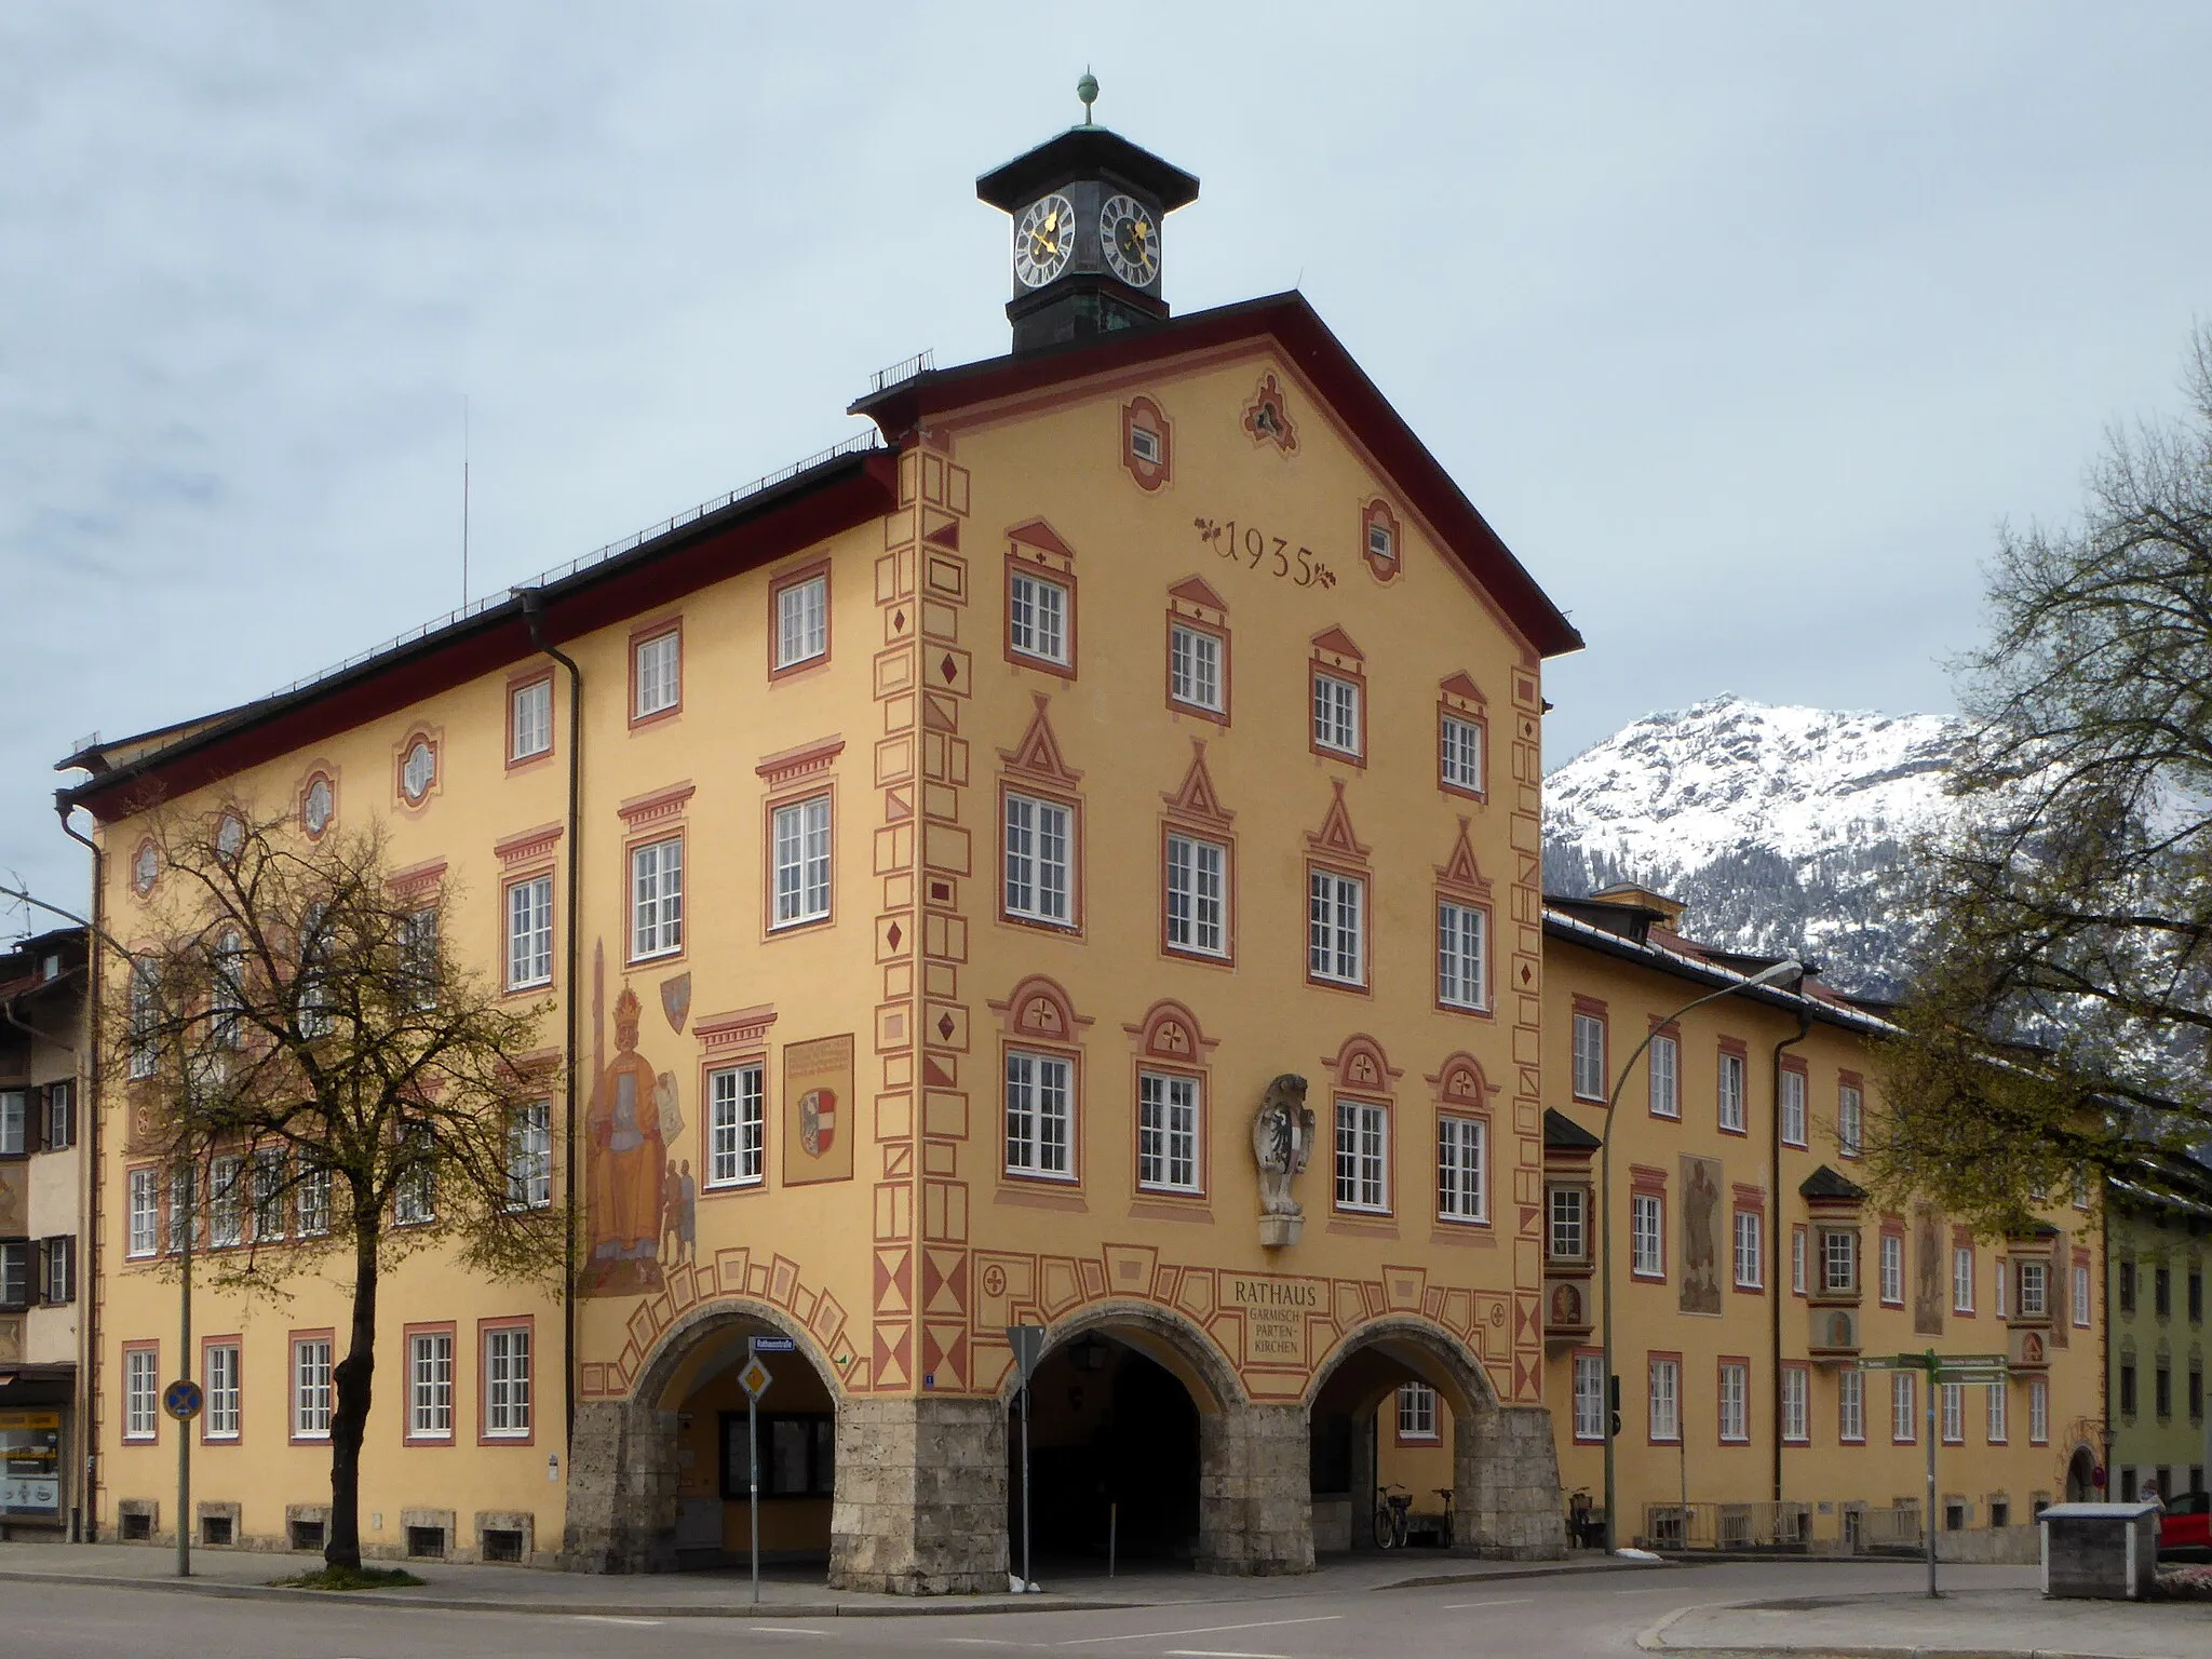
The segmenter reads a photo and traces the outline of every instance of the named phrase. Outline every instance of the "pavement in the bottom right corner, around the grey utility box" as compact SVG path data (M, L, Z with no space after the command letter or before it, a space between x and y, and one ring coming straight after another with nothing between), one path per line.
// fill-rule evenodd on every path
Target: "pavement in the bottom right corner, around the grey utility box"
M2046 1601L2037 1590L1927 1595L1805 1595L1785 1601L1683 1608L1646 1630L1648 1652L1701 1659L2205 1659L2203 1601Z

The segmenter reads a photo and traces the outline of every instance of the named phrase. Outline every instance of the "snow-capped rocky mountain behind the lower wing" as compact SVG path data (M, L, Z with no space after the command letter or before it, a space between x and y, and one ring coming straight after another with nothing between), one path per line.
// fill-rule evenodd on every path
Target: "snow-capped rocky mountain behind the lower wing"
M1913 933L1905 843L1947 821L1964 728L1717 697L1650 714L1544 779L1544 885L1630 880L1683 931L1805 951L1838 989L1893 995Z

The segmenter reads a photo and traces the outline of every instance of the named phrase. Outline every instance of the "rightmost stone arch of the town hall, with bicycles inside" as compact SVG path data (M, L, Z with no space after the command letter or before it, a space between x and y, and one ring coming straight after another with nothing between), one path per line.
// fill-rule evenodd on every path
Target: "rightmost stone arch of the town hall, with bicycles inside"
M1442 1325L1418 1314L1385 1314L1354 1327L1314 1367L1298 1411L1310 1425L1323 1391L1332 1391L1336 1409L1365 1425L1407 1380L1427 1383L1451 1411L1453 1553L1562 1555L1566 1531L1551 1411L1504 1405L1482 1356ZM1374 1500L1374 1467L1358 1453L1354 1436L1354 1537Z

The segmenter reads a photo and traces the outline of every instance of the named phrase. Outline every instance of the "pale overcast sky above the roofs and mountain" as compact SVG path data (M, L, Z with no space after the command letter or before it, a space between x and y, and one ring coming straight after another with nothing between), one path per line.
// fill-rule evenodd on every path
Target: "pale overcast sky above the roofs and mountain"
M82 734L460 602L465 398L484 593L1002 352L973 177L1086 64L1203 181L1175 307L1303 288L1586 635L1551 763L1951 708L1997 522L2179 403L2208 62L2185 0L0 7L0 869L84 894Z

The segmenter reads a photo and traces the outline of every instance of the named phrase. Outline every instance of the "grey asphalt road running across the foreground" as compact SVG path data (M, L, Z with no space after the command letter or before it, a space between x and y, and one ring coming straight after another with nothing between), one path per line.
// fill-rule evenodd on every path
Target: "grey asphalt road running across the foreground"
M2031 1568L1947 1568L1958 1588L2033 1584ZM0 1659L1413 1659L1628 1655L1681 1606L1909 1590L1913 1566L1719 1564L1422 1590L1340 1590L1104 1613L876 1619L582 1617L411 1610L403 1601L248 1601L173 1590L0 1584Z

